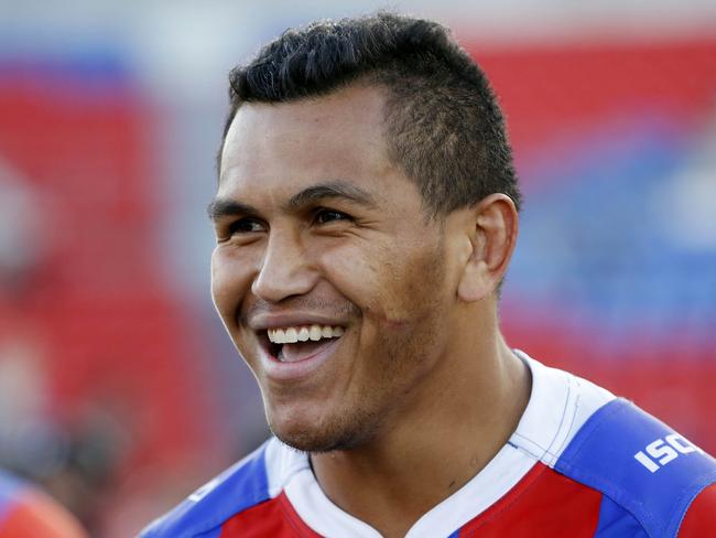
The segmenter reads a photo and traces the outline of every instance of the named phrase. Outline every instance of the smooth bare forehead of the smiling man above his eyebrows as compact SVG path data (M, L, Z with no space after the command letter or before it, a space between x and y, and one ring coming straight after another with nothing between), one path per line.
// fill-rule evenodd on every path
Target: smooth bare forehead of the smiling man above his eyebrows
M286 104L239 108L223 149L219 191L295 190L316 182L383 175L392 168L383 137L383 97L350 87Z

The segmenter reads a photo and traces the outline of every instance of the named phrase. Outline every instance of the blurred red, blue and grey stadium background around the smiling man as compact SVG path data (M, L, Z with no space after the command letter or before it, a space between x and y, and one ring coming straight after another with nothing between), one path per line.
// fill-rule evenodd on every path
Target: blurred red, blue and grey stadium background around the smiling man
M451 25L525 195L510 344L716 452L712 0L0 0L0 465L135 534L268 434L209 297L227 73L289 25Z

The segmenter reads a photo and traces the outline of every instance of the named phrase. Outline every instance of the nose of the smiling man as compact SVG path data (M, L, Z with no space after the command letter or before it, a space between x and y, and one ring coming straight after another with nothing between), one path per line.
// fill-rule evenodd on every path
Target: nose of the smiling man
M267 302L308 293L317 281L310 258L300 234L272 233L251 291Z

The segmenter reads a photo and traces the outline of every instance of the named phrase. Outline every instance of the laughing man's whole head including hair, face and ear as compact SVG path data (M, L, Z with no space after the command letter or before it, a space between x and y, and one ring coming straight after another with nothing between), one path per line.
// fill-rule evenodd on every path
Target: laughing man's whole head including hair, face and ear
M519 202L499 110L441 26L395 15L285 33L231 84L217 310L280 439L359 446L493 340Z

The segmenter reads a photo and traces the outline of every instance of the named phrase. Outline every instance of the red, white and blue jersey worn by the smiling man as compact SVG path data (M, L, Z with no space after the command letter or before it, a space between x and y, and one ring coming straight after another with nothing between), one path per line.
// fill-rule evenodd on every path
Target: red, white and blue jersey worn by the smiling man
M532 373L532 392L514 433L408 538L716 536L712 456L633 404L518 354ZM268 536L380 534L334 505L308 456L276 439L142 534Z

